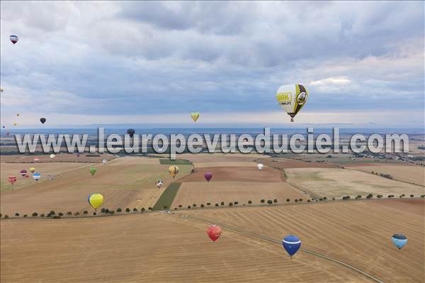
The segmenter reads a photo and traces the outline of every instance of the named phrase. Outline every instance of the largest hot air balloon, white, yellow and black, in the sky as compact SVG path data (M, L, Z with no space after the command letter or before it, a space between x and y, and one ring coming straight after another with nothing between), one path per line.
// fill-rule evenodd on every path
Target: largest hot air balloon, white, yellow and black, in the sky
M307 102L307 96L308 91L302 84L284 84L276 92L276 99L290 116L291 122Z

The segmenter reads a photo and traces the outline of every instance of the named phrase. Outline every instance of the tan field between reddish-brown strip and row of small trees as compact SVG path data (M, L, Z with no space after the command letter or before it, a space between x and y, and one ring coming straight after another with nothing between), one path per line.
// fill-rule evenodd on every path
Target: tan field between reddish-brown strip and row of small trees
M286 199L307 201L309 198L307 194L302 194L285 182L184 182L171 208L193 204L206 206L207 202L214 206L224 201L227 206L231 201L238 201L239 206L242 206L248 204L248 201L261 204L261 199L277 199L279 203L283 203Z

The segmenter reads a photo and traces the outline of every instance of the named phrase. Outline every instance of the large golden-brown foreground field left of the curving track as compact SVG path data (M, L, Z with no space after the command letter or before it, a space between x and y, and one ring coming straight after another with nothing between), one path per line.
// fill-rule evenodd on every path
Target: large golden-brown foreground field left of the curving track
M300 253L290 260L280 245L226 229L217 243L211 243L207 228L205 223L162 213L2 220L0 279L55 283L368 282L356 272L313 255Z

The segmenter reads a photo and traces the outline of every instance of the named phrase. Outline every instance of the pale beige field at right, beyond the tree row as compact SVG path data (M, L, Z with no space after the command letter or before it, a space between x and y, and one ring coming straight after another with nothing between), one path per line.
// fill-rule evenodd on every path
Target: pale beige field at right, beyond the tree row
M312 196L327 198L358 194L424 194L424 187L368 174L336 168L295 168L285 170L287 182Z

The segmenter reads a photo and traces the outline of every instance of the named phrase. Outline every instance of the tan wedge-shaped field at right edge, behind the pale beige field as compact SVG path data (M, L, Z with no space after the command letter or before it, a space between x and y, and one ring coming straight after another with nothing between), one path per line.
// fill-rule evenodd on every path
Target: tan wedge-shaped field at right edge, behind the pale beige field
M363 172L390 174L394 179L425 186L425 168L414 165L365 165L348 167Z

